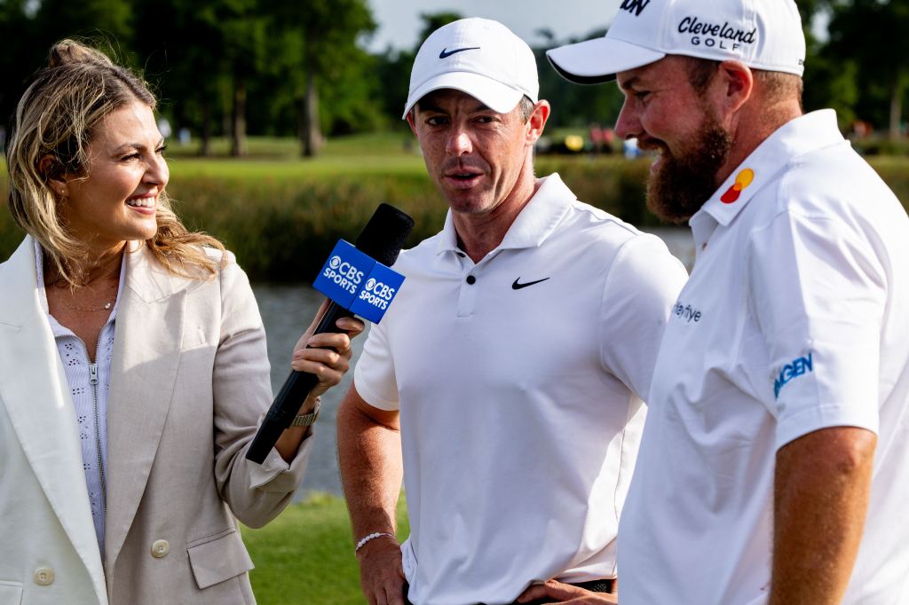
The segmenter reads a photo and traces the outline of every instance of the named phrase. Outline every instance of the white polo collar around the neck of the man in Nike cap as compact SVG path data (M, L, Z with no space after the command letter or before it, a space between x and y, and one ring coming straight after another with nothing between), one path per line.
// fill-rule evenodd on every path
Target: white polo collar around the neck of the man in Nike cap
M534 248L544 243L550 233L562 221L564 213L575 201L574 193L562 182L558 174L550 174L541 179L540 187L530 201L514 219L508 233L495 247L495 250ZM457 233L454 231L454 218L451 209L445 216L445 227L442 229L436 254L457 253Z

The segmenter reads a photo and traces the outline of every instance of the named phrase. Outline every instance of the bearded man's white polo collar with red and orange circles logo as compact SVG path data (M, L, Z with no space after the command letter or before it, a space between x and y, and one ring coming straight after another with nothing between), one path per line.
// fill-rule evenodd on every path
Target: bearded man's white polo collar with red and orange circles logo
M794 156L840 144L843 140L833 109L822 109L790 120L739 164L688 223L695 232L710 222L706 215L724 226L732 223L764 183L772 182L774 175L792 162Z

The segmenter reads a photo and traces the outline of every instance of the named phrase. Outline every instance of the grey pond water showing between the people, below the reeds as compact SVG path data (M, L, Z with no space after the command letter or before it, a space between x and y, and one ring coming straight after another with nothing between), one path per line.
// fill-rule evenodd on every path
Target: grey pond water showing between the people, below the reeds
M666 243L669 251L678 257L691 272L694 263L694 242L687 229L651 229ZM300 334L315 316L324 296L307 284L271 285L253 284L268 338L268 359L272 364L272 390L278 392L290 371L290 354ZM354 341L353 361L363 351L365 337ZM340 385L325 393L322 412L315 426L315 446L309 468L295 500L303 500L312 491L327 491L340 495L341 480L335 438L335 418L338 403L350 386L354 372L347 372Z

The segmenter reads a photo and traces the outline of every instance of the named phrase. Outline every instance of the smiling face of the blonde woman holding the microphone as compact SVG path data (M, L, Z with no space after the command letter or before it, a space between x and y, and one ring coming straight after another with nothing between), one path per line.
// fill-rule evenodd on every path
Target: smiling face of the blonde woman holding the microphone
M107 114L87 151L85 174L67 174L58 192L66 196L61 212L75 237L95 253L153 237L169 173L152 108L136 101Z

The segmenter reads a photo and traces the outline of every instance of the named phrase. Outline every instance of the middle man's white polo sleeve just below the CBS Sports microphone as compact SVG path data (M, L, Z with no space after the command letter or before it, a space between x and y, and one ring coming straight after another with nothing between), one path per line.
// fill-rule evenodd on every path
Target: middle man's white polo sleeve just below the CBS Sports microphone
M385 322L374 323L363 346L363 353L354 369L356 391L363 400L375 408L395 411L399 407L395 360L388 342L388 324L393 317L385 315Z

